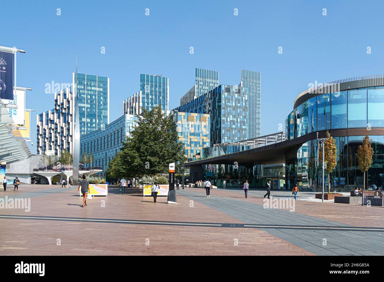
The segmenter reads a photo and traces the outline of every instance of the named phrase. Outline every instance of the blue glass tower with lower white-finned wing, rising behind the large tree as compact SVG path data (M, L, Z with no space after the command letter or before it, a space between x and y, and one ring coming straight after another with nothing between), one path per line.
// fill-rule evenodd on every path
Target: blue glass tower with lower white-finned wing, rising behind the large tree
M123 101L123 114L141 114L161 105L168 110L169 79L162 75L140 74L140 91Z

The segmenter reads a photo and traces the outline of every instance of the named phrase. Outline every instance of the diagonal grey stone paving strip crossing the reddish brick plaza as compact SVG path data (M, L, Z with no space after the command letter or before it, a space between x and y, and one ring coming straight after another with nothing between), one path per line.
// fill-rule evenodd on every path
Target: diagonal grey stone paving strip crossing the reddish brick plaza
M260 223L260 224L290 224L290 225L302 225L302 226L351 226L349 224L339 223L324 218L318 218L306 214L287 211L285 209L265 209L262 204L256 204L245 200L238 200L228 198L228 191L220 193L220 190L214 192L214 195L207 198L204 196L204 191L199 189L187 189L177 191L178 195L186 196L192 200L199 201L207 206L210 206L222 213L231 214L231 216L238 218L245 223ZM203 194L203 195L202 195ZM227 195L225 195L227 194ZM223 196L221 196L223 195ZM329 203L327 203L329 204ZM335 233L333 230L327 230L328 236L325 233L317 230L295 230L295 229L262 229L270 234L280 237L296 246L300 246L317 255L348 255L359 256L363 253L370 253L375 255L384 254L384 250L381 249L383 233L378 232L364 232L358 231L360 238L359 241L365 241L366 244L361 244L356 247L355 244L349 241L343 241L339 239L340 233ZM340 232L340 231L339 231ZM347 231L345 231L347 232ZM356 234L356 233L352 233ZM346 235L346 233L344 233ZM327 246L323 246L323 237L330 242L327 242ZM373 242L372 242L373 241ZM362 250L361 247L365 248Z

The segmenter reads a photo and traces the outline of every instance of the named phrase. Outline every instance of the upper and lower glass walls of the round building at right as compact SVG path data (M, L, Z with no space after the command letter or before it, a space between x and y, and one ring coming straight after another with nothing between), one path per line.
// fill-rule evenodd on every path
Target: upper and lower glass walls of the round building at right
M349 82L350 84L354 81ZM362 82L361 82L362 83ZM365 82L364 82L365 83ZM345 88L348 88L344 86ZM351 88L351 87L350 87ZM374 148L373 163L366 175L365 187L384 185L384 136L370 130L384 127L384 87L371 86L317 94L297 106L286 118L286 138L293 140L321 130L361 129L369 135ZM380 132L380 131L375 131ZM329 175L331 191L349 192L363 186L358 167L357 148L365 135L336 136L337 165ZM318 160L318 140L312 139L298 150L286 152L286 185L298 184L300 191L321 191L323 175ZM324 177L328 190L328 175Z

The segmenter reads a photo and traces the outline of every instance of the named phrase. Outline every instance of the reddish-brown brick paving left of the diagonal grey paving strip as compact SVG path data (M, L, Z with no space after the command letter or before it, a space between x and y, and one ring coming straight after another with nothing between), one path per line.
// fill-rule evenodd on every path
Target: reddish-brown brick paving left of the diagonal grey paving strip
M166 204L166 197L158 197L155 204L151 197L142 197L139 189L127 189L128 194L119 195L117 188L110 188L107 197L93 197L87 207L81 208L77 188L60 187L20 185L19 191L0 191L0 198L31 198L30 212L0 209L0 214L243 223L184 196L177 196L176 205ZM0 224L0 255L313 255L257 228L4 218Z

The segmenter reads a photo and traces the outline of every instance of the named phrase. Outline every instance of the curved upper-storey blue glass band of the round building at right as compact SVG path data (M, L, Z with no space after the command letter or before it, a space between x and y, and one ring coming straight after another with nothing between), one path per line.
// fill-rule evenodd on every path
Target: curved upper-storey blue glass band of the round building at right
M382 127L383 106L382 86L322 94L303 102L288 115L286 138L320 130Z

